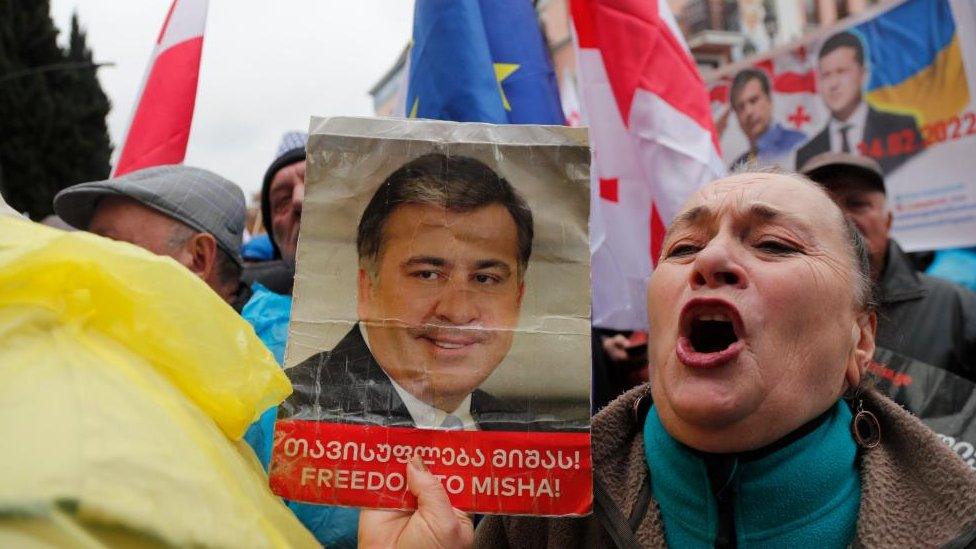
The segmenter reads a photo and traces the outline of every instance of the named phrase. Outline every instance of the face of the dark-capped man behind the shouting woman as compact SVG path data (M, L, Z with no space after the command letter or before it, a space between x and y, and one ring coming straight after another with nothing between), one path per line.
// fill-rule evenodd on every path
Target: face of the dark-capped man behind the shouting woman
M844 211L864 237L871 254L871 270L875 277L881 272L888 251L891 232L891 211L883 192L871 187L856 176L828 181L827 192Z

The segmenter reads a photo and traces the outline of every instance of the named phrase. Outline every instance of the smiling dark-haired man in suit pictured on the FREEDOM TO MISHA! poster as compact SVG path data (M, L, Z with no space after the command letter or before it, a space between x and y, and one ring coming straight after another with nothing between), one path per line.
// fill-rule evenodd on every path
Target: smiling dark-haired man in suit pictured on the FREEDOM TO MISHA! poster
M528 205L484 163L428 154L395 170L357 229L359 322L332 350L288 370L288 415L427 429L558 428L478 388L512 346L532 239Z

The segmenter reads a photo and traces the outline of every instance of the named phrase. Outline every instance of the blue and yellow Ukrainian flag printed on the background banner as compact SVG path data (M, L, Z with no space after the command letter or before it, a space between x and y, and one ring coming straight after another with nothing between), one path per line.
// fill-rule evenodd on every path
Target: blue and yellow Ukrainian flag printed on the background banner
M853 30L867 48L867 99L875 107L914 115L924 125L969 104L948 0L908 0Z

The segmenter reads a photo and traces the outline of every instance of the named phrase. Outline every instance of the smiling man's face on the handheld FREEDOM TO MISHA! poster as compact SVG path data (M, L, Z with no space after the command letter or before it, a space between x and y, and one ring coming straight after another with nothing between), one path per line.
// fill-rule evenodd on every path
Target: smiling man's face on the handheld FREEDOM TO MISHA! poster
M454 411L512 345L523 291L517 258L515 221L500 204L397 207L378 272L359 273L359 318L377 362L421 400Z

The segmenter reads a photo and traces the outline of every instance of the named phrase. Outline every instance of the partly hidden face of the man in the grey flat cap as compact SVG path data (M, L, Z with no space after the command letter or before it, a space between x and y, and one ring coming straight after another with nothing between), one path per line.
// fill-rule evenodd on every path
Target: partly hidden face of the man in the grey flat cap
M192 234L169 217L131 198L108 196L98 202L88 231L99 236L135 244L156 255L169 256L189 267L192 257L179 237Z

